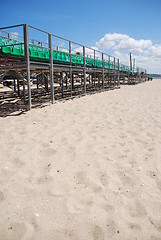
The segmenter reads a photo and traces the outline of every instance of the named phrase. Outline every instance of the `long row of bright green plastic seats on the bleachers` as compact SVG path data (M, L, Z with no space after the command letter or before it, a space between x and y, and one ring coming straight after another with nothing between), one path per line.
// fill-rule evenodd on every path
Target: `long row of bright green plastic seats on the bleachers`
M9 54L17 57L24 57L24 43L15 39L9 39L6 37L0 37L0 51L4 54ZM29 44L29 56L33 59L40 60L49 60L49 49ZM70 54L63 51L53 50L53 61L61 62L61 63L70 63ZM83 66L83 56L77 54L71 54L71 63L73 65L82 65ZM96 67L102 68L102 60L94 59L86 57L85 59L86 67ZM114 69L114 63L110 63L108 61L104 61L105 69ZM115 64L115 69L118 70L118 65ZM120 65L120 71L132 72L129 68Z

